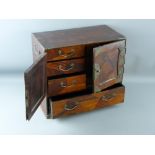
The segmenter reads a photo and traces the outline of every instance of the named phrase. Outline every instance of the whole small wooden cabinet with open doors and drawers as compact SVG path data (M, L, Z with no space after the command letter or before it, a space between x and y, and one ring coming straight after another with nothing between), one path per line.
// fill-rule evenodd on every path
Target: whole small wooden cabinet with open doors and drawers
M32 34L25 71L26 119L39 105L47 118L124 101L126 39L106 25Z

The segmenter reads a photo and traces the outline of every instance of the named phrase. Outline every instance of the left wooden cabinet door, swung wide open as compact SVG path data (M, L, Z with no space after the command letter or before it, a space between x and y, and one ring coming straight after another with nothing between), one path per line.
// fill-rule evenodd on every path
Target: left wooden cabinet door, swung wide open
M30 120L46 97L46 54L43 54L25 73L26 119Z

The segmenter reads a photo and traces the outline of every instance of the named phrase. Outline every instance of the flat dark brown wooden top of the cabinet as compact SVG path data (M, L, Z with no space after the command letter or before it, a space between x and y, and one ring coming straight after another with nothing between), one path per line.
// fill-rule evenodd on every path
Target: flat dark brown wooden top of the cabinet
M45 49L125 39L106 25L33 33Z

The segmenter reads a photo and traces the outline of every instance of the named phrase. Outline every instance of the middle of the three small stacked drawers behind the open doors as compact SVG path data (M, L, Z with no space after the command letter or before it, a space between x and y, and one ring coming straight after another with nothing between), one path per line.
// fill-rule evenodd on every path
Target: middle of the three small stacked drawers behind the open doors
M47 63L47 76L56 76L82 72L85 70L85 59L65 60Z

